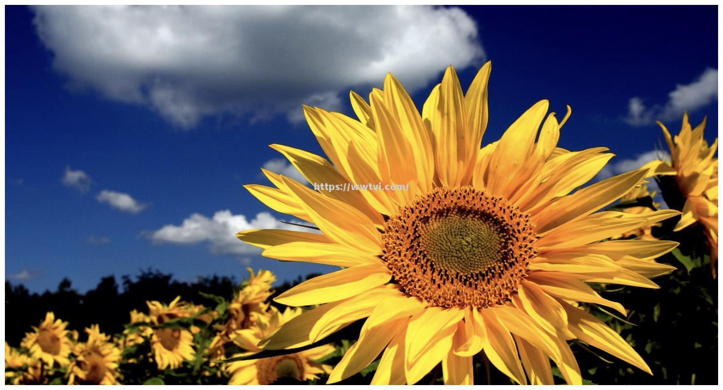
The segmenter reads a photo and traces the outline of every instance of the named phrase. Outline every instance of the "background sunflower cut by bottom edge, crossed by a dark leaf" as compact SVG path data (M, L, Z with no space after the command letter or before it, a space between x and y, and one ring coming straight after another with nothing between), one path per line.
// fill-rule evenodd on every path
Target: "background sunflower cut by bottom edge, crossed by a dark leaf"
M250 328L236 331L234 343L249 352L259 352L257 344L265 336L275 331L283 323L291 321L301 314L300 308L286 308L282 313L270 308L269 321L257 323ZM330 373L331 367L316 363L316 360L334 352L334 347L327 344L289 355L265 357L255 360L240 360L226 365L231 375L228 384L232 385L266 385L274 383L278 378L295 378L307 381L318 378L317 375ZM235 355L238 357L242 355Z

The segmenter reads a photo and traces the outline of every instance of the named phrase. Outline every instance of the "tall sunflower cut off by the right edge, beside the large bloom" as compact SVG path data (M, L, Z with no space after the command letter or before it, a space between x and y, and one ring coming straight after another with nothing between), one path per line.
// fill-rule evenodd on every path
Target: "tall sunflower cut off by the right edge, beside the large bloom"
M675 138L664 124L658 124L670 150L670 160L651 161L643 168L650 169L649 176L675 177L683 201L675 204L678 202L674 200L669 204L683 211L683 216L674 230L680 231L696 222L703 226L715 275L718 260L718 158L715 157L718 138L709 146L703 138L706 119L693 129L688 122L688 113L683 115L683 127Z

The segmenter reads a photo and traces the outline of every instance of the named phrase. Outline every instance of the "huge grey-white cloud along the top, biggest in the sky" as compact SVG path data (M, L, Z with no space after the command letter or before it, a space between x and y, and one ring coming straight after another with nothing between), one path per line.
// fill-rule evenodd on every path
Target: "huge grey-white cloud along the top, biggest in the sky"
M69 87L158 111L302 119L393 72L410 90L448 65L479 64L474 20L456 7L33 7Z

